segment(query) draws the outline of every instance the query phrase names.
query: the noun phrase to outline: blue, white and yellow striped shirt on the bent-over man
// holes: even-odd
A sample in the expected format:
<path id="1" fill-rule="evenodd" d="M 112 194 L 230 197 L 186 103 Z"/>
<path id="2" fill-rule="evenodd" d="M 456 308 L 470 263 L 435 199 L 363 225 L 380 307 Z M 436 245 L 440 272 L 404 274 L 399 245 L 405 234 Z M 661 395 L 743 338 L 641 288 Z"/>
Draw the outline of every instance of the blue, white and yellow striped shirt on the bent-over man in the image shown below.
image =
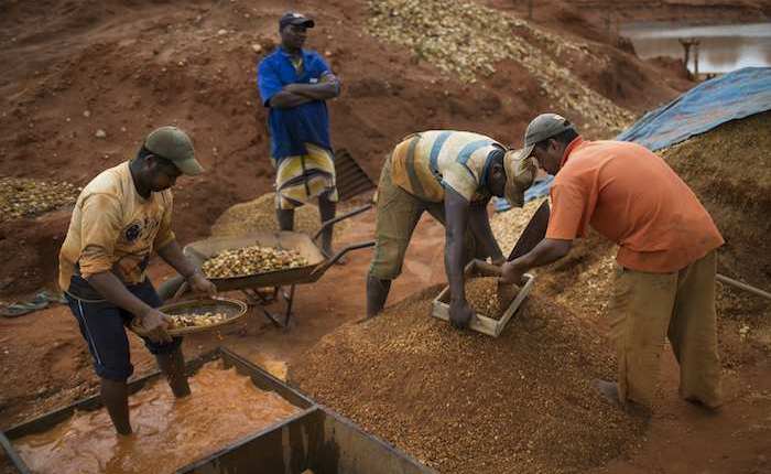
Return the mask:
<path id="1" fill-rule="evenodd" d="M 421 200 L 441 203 L 445 186 L 468 202 L 490 197 L 485 187 L 492 152 L 506 148 L 484 134 L 430 130 L 402 140 L 391 154 L 391 180 Z"/>

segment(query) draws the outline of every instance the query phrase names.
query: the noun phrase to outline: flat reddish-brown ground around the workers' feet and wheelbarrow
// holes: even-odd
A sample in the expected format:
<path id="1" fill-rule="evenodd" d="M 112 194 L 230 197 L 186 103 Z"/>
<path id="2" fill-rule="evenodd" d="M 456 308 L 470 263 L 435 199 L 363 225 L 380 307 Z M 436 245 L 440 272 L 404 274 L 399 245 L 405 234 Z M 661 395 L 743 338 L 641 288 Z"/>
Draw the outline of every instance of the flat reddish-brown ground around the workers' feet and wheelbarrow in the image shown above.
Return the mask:
<path id="1" fill-rule="evenodd" d="M 356 218 L 341 243 L 371 236 L 373 214 Z M 390 302 L 444 280 L 444 229 L 424 217 L 408 254 L 404 273 L 393 286 Z M 370 250 L 350 254 L 348 263 L 330 269 L 313 287 L 300 287 L 289 331 L 274 327 L 256 309 L 243 324 L 185 340 L 187 357 L 222 345 L 281 374 L 285 365 L 302 365 L 302 354 L 324 334 L 359 320 L 365 312 L 361 292 Z M 160 281 L 170 271 L 153 265 Z M 536 288 L 551 293 L 546 286 Z M 426 315 L 427 317 L 427 315 Z M 588 317 L 588 316 L 587 316 Z M 730 322 L 728 322 L 730 324 Z M 731 325 L 731 331 L 736 328 Z M 607 326 L 600 321 L 598 331 Z M 42 412 L 90 395 L 96 388 L 90 360 L 75 320 L 65 306 L 55 306 L 18 320 L 0 320 L 2 405 L 0 420 L 8 428 Z M 31 344 L 31 342 L 34 342 Z M 132 336 L 135 376 L 154 370 L 152 357 Z M 677 365 L 667 352 L 662 359 L 662 390 L 645 440 L 628 459 L 616 460 L 596 473 L 764 473 L 771 470 L 771 363 L 768 353 L 736 338 L 724 341 L 740 364 L 725 370 L 727 403 L 716 414 L 705 413 L 676 396 Z M 18 370 L 30 367 L 31 370 Z"/>

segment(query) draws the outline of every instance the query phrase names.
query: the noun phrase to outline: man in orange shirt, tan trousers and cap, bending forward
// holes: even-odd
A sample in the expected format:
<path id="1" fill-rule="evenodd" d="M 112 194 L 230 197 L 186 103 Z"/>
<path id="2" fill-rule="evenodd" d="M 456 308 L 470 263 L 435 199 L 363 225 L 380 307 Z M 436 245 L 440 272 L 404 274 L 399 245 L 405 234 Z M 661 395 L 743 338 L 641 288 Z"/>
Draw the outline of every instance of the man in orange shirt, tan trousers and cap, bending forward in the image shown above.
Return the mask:
<path id="1" fill-rule="evenodd" d="M 680 363 L 681 396 L 720 405 L 715 314 L 716 249 L 723 237 L 696 195 L 648 149 L 586 141 L 556 114 L 528 126 L 522 157 L 555 175 L 546 238 L 503 266 L 503 281 L 566 256 L 588 226 L 619 246 L 611 337 L 618 383 L 597 381 L 607 398 L 650 407 L 669 337 Z"/>

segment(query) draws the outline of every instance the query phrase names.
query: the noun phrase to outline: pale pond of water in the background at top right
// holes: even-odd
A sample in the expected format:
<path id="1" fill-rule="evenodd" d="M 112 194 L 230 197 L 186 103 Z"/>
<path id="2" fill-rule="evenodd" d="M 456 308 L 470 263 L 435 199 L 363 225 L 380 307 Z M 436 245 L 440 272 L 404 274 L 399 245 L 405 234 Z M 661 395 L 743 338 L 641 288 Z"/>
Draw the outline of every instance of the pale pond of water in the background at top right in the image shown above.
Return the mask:
<path id="1" fill-rule="evenodd" d="M 677 25 L 671 23 L 631 23 L 620 33 L 632 40 L 642 58 L 666 56 L 683 58 L 678 39 L 701 41 L 699 73 L 728 73 L 747 66 L 771 66 L 771 23 L 728 25 Z M 688 69 L 694 71 L 693 49 Z"/>

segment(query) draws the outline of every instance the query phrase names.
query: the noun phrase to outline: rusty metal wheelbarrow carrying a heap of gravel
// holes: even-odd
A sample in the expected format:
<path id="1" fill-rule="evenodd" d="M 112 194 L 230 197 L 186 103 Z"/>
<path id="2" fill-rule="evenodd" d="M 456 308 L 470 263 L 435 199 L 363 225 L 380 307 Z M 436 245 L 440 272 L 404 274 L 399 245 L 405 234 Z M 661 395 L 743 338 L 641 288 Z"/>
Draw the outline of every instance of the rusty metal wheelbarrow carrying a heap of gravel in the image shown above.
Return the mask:
<path id="1" fill-rule="evenodd" d="M 372 208 L 372 204 L 329 219 L 322 225 L 322 228 L 319 228 L 313 237 L 303 233 L 286 230 L 261 231 L 240 237 L 211 237 L 205 240 L 198 240 L 185 246 L 183 251 L 198 268 L 200 268 L 204 261 L 221 251 L 237 250 L 256 245 L 297 251 L 305 258 L 307 265 L 263 273 L 209 279 L 215 287 L 217 287 L 218 292 L 241 291 L 247 297 L 247 302 L 250 305 L 259 305 L 265 317 L 273 324 L 282 328 L 287 328 L 292 316 L 295 287 L 297 284 L 314 283 L 349 251 L 374 246 L 374 240 L 351 244 L 334 256 L 327 257 L 316 245 L 318 237 L 329 226 L 369 211 L 370 208 Z M 284 291 L 284 287 L 289 287 L 289 291 Z M 265 292 L 264 290 L 269 291 Z M 159 294 L 161 298 L 170 301 L 177 300 L 187 291 L 187 283 L 182 277 L 172 278 L 159 287 Z M 265 309 L 265 305 L 278 301 L 279 297 L 282 297 L 286 303 L 283 317 Z"/>

